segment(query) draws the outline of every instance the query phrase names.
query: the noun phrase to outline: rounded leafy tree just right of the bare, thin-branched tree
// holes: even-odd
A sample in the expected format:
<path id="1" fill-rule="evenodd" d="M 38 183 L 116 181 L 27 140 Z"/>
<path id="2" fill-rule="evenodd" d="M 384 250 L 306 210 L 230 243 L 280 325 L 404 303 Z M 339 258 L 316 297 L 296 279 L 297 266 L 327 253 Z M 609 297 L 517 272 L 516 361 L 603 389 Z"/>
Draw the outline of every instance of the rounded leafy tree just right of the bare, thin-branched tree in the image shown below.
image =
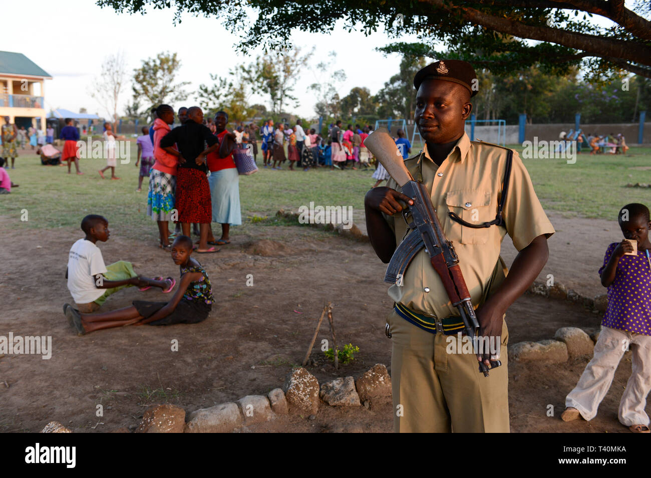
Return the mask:
<path id="1" fill-rule="evenodd" d="M 175 104 L 187 100 L 184 90 L 189 81 L 174 83 L 181 68 L 176 53 L 158 53 L 155 58 L 142 61 L 140 68 L 133 70 L 133 100 L 143 98 L 148 105 Z"/>

